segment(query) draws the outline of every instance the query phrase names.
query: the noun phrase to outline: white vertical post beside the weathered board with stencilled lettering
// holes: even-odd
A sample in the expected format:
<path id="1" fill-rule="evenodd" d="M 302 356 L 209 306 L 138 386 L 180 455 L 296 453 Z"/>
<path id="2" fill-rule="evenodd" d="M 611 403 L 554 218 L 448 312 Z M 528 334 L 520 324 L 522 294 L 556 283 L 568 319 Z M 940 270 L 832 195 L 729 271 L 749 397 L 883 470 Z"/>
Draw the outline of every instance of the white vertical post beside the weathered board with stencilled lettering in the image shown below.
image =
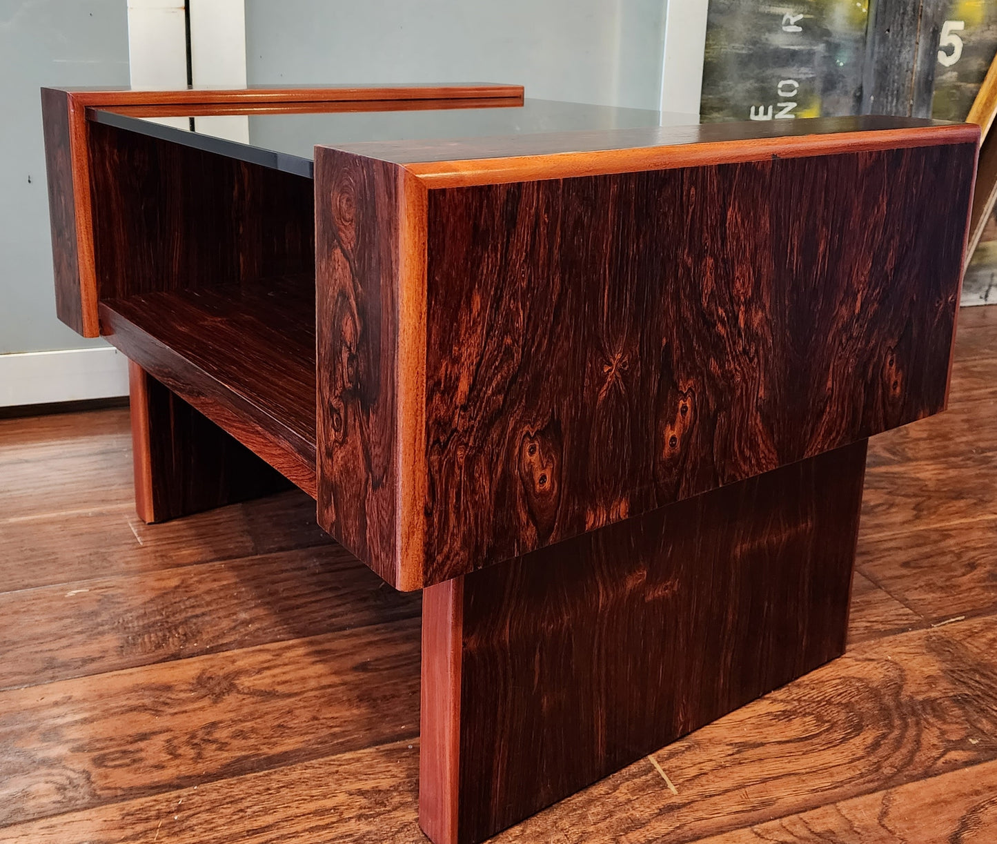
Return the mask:
<path id="1" fill-rule="evenodd" d="M 709 0 L 668 0 L 665 55 L 661 62 L 661 111 L 699 122 L 703 52 Z"/>

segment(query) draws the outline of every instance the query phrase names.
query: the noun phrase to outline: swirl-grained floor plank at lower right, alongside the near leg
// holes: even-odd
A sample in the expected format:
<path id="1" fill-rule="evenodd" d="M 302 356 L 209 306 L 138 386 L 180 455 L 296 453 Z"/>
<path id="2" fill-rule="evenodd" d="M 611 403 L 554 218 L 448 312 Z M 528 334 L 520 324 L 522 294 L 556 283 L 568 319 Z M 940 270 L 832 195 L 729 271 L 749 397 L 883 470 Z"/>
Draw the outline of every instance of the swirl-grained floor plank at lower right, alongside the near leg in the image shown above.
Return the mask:
<path id="1" fill-rule="evenodd" d="M 992 617 L 989 624 L 997 620 Z M 997 757 L 997 670 L 957 625 L 864 642 L 496 842 L 690 842 Z"/>

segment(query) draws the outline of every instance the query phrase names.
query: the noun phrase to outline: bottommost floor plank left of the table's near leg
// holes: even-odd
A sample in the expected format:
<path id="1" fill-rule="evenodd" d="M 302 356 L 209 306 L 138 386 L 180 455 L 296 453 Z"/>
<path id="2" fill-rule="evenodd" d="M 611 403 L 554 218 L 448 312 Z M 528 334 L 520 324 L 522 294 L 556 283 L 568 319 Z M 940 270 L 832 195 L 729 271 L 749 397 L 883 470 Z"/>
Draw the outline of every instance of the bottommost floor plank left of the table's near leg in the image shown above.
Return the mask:
<path id="1" fill-rule="evenodd" d="M 18 824 L 5 844 L 426 844 L 402 741 Z"/>

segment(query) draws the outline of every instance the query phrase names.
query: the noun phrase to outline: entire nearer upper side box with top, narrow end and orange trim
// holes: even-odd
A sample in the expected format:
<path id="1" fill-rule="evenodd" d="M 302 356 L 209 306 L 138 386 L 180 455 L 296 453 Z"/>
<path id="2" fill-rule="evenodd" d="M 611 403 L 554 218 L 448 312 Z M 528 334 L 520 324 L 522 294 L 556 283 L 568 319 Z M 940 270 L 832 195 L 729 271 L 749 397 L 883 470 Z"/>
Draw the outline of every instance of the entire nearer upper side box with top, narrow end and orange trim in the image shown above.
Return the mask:
<path id="1" fill-rule="evenodd" d="M 416 589 L 941 410 L 978 133 L 823 123 L 317 148 L 320 524 Z"/>

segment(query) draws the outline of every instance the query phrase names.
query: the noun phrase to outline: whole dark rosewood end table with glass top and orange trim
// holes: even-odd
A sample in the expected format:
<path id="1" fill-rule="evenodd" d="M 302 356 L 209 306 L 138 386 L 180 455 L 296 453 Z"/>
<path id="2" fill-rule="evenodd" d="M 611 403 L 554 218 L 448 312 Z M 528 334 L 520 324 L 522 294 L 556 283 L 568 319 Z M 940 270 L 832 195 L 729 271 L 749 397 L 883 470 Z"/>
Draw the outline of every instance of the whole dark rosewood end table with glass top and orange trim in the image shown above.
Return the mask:
<path id="1" fill-rule="evenodd" d="M 437 844 L 843 651 L 866 439 L 945 406 L 977 127 L 42 101 L 59 315 L 132 361 L 140 515 L 293 483 L 424 590 Z"/>

